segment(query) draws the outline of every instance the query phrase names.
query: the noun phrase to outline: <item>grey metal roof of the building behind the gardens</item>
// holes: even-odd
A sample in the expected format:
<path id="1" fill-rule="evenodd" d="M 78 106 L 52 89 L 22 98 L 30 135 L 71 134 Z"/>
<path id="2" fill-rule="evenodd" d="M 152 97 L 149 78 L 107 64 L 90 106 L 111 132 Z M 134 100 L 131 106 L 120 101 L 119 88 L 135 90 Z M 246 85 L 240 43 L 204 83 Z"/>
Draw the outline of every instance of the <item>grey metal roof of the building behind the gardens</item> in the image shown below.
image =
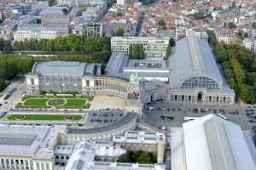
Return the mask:
<path id="1" fill-rule="evenodd" d="M 33 67 L 33 74 L 41 75 L 70 75 L 84 76 L 84 74 L 94 74 L 94 64 L 68 61 L 49 61 L 36 63 Z"/>

